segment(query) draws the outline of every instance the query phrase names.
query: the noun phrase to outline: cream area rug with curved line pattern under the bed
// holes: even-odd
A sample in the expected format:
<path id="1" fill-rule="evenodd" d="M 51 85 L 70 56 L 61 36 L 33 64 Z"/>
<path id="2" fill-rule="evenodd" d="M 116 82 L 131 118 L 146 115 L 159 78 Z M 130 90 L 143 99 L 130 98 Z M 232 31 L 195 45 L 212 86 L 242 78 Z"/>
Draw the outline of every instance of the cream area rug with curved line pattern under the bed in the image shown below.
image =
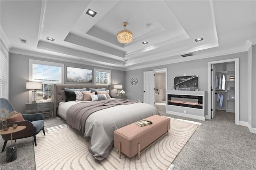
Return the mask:
<path id="1" fill-rule="evenodd" d="M 150 146 L 140 155 L 128 158 L 112 148 L 105 160 L 95 161 L 86 142 L 77 130 L 69 126 L 54 128 L 36 135 L 34 147 L 36 170 L 166 170 L 200 123 L 170 119 L 169 135 Z"/>

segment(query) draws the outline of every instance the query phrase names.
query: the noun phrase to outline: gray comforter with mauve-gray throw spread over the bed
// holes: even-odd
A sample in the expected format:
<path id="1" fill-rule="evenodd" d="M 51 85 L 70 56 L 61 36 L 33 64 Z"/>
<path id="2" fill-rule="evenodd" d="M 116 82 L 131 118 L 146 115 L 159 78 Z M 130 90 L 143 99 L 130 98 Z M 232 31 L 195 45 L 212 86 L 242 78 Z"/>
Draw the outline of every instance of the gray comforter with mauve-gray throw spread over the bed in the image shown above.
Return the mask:
<path id="1" fill-rule="evenodd" d="M 67 111 L 67 123 L 84 134 L 89 152 L 102 160 L 113 147 L 114 130 L 152 115 L 159 115 L 152 105 L 113 99 L 72 105 Z"/>

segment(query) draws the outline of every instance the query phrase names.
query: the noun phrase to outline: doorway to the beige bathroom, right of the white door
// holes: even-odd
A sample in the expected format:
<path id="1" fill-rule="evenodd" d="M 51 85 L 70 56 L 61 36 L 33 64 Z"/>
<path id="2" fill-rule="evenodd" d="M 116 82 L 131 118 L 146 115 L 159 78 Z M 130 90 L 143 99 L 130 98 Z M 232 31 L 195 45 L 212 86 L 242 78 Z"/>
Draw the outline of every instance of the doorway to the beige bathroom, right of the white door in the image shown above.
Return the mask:
<path id="1" fill-rule="evenodd" d="M 155 107 L 160 111 L 166 111 L 166 77 L 167 68 L 154 70 Z"/>

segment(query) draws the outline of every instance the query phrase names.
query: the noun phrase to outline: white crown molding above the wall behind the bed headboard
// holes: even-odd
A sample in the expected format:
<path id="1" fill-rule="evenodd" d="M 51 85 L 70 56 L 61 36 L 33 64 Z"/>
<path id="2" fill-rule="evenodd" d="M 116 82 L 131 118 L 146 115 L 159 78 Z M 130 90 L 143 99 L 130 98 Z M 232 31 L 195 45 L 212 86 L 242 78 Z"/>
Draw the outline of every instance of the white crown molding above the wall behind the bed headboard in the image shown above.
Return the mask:
<path id="1" fill-rule="evenodd" d="M 57 55 L 39 53 L 39 52 L 35 52 L 35 51 L 28 51 L 28 50 L 18 49 L 18 48 L 10 49 L 10 53 L 125 71 L 125 69 L 123 67 L 113 67 L 113 66 L 107 66 L 107 65 L 103 65 L 103 64 L 99 64 L 99 63 L 93 63 L 93 62 L 87 61 L 86 59 L 79 60 L 79 58 L 81 58 L 81 57 L 76 57 L 77 59 L 74 59 L 74 58 L 61 57 L 61 56 L 57 56 Z"/>

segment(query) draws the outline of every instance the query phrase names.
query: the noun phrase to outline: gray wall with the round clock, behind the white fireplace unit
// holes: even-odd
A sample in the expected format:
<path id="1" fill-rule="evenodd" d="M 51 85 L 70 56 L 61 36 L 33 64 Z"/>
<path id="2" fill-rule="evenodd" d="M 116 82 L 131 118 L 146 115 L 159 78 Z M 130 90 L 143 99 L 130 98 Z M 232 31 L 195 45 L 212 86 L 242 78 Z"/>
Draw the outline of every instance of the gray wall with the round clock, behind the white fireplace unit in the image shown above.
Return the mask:
<path id="1" fill-rule="evenodd" d="M 240 121 L 248 122 L 247 109 L 247 52 L 235 53 L 229 55 L 222 55 L 218 57 L 210 57 L 206 59 L 198 59 L 193 61 L 186 61 L 181 63 L 173 63 L 157 67 L 150 67 L 144 69 L 137 69 L 126 71 L 125 73 L 125 90 L 129 99 L 143 101 L 143 72 L 152 71 L 153 69 L 167 68 L 167 88 L 166 90 L 173 90 L 174 77 L 186 75 L 198 75 L 198 90 L 206 91 L 206 103 L 208 103 L 208 62 L 223 59 L 239 58 L 239 79 L 240 79 Z M 130 79 L 132 77 L 138 78 L 137 85 L 131 85 Z M 208 111 L 208 105 L 206 105 Z M 255 117 L 255 112 L 253 112 Z M 206 112 L 208 115 L 208 112 Z"/>

